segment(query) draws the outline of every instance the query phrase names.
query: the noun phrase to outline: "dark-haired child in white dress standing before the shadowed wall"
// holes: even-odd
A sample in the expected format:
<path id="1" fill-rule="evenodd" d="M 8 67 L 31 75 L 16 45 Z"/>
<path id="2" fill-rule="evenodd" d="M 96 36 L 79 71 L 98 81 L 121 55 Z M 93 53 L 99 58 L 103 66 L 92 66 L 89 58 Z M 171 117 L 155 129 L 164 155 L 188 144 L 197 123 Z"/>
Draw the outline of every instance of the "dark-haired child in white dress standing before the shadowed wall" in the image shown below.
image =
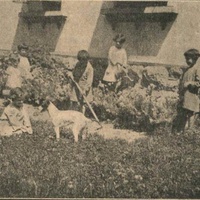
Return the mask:
<path id="1" fill-rule="evenodd" d="M 118 74 L 122 71 L 123 67 L 127 65 L 127 54 L 123 48 L 126 41 L 123 34 L 117 34 L 113 41 L 114 46 L 111 46 L 108 53 L 108 67 L 105 71 L 103 81 L 106 83 L 114 84 L 117 82 Z"/>

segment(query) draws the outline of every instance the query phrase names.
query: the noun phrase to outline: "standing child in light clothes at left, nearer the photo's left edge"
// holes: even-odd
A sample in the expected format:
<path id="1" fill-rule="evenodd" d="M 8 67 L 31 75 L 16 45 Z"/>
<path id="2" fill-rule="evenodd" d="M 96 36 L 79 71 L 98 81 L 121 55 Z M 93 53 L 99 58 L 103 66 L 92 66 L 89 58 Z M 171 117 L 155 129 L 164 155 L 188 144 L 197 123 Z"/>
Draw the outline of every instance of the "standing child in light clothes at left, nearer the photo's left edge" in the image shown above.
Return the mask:
<path id="1" fill-rule="evenodd" d="M 6 70 L 7 82 L 6 89 L 13 89 L 22 86 L 21 73 L 17 65 L 19 63 L 19 57 L 16 54 L 11 54 L 8 60 L 8 68 Z"/>

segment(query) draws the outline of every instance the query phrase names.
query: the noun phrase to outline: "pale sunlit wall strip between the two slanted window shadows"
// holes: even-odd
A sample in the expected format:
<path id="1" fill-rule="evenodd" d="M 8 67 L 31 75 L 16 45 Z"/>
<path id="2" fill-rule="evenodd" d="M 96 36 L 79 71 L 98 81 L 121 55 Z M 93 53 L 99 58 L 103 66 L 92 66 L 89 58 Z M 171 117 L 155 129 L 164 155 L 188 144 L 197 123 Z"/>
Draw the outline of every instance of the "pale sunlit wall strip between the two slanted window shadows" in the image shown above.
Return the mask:
<path id="1" fill-rule="evenodd" d="M 80 49 L 89 49 L 102 1 L 62 1 L 62 14 L 67 20 L 55 52 L 75 56 Z"/>

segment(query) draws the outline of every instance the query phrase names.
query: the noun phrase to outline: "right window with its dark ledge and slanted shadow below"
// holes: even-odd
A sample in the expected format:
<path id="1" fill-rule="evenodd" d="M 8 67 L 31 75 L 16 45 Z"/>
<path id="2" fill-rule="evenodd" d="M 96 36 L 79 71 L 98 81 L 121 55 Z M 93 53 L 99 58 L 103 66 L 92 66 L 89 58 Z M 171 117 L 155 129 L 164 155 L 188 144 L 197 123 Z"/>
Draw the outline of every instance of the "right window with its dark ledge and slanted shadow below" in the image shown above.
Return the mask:
<path id="1" fill-rule="evenodd" d="M 90 54 L 107 58 L 113 37 L 123 33 L 128 56 L 157 56 L 176 19 L 173 12 L 163 13 L 167 4 L 167 1 L 104 2 L 91 39 Z M 160 7 L 160 13 L 145 14 L 149 6 Z"/>

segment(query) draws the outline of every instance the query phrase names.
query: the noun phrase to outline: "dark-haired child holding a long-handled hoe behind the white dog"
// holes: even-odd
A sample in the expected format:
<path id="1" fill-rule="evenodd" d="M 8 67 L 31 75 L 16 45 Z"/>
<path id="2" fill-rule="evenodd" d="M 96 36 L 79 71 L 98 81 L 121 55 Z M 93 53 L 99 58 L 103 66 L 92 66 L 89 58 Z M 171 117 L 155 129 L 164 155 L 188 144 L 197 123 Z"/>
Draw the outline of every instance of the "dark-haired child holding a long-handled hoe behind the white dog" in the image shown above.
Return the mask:
<path id="1" fill-rule="evenodd" d="M 80 86 L 83 94 L 86 96 L 88 101 L 92 101 L 92 83 L 93 83 L 93 67 L 89 62 L 90 55 L 87 51 L 81 50 L 78 52 L 78 62 L 72 71 L 72 74 L 68 74 L 78 85 Z M 84 99 L 79 89 L 75 84 L 72 84 L 72 107 L 80 105 L 80 109 L 85 113 Z"/>

